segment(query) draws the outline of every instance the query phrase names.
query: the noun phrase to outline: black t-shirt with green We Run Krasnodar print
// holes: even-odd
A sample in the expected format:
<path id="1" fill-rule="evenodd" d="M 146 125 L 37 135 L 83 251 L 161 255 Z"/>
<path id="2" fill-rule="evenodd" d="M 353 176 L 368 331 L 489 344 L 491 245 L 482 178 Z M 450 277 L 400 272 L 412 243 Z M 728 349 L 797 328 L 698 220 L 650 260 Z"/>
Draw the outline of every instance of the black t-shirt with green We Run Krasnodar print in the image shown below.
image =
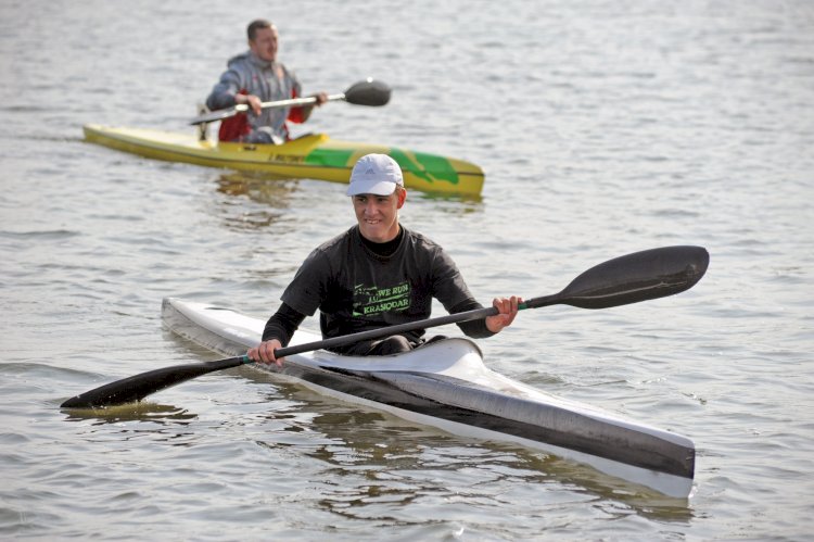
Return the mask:
<path id="1" fill-rule="evenodd" d="M 319 310 L 323 338 L 427 319 L 433 298 L 447 312 L 481 306 L 441 245 L 400 229 L 390 255 L 371 250 L 358 226 L 323 243 L 303 262 L 281 300 L 303 315 Z M 404 335 L 417 341 L 423 330 Z"/>

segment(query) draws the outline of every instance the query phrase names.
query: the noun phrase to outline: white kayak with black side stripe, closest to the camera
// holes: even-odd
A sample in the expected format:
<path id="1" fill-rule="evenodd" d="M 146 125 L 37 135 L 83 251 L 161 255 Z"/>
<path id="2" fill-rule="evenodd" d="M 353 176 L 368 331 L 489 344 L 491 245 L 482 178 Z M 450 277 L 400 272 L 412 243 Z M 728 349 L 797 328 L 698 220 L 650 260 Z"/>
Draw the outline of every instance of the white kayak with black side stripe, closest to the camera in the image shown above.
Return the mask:
<path id="1" fill-rule="evenodd" d="M 176 298 L 164 300 L 162 316 L 176 333 L 225 355 L 256 345 L 265 325 Z M 319 337 L 297 331 L 291 345 L 315 340 Z M 255 367 L 455 434 L 544 450 L 672 497 L 686 499 L 692 488 L 689 439 L 511 380 L 488 369 L 468 339 L 436 341 L 396 356 L 320 350 L 291 355 L 282 368 Z"/>

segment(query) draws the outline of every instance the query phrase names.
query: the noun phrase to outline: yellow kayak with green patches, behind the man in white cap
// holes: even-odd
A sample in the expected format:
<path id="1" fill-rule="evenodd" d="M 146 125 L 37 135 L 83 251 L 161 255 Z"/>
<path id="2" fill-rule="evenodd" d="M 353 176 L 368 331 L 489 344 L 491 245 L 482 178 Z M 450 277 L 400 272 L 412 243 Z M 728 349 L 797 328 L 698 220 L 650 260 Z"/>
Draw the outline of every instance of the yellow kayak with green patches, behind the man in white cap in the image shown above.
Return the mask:
<path id="1" fill-rule="evenodd" d="M 475 164 L 395 147 L 338 141 L 325 134 L 310 134 L 283 144 L 253 144 L 201 140 L 194 133 L 96 124 L 86 125 L 84 130 L 87 141 L 150 159 L 333 182 L 347 182 L 356 161 L 376 152 L 398 162 L 409 189 L 459 196 L 480 196 L 483 189 L 483 169 Z"/>

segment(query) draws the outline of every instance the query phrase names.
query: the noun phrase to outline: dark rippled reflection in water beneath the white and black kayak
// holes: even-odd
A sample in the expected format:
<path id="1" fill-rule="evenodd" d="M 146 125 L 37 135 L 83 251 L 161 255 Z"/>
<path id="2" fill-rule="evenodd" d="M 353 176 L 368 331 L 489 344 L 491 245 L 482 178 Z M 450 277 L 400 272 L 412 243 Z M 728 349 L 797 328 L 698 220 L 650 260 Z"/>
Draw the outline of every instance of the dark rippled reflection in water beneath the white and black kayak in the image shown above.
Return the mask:
<path id="1" fill-rule="evenodd" d="M 671 522 L 694 517 L 687 500 L 667 497 L 544 452 L 473 442 L 374 409 L 325 402 L 296 385 L 281 387 L 269 402 L 279 402 L 281 395 L 294 402 L 284 412 L 275 409 L 274 418 L 279 421 L 285 416 L 292 427 L 320 434 L 296 449 L 326 465 L 319 475 L 343 480 L 333 491 L 325 490 L 319 501 L 321 507 L 343 517 L 376 517 L 382 505 L 409 504 L 430 494 L 498 505 L 507 493 L 551 484 L 608 514 L 637 514 Z M 315 440 L 325 442 L 315 445 Z M 279 445 L 274 440 L 264 443 L 269 450 Z"/>

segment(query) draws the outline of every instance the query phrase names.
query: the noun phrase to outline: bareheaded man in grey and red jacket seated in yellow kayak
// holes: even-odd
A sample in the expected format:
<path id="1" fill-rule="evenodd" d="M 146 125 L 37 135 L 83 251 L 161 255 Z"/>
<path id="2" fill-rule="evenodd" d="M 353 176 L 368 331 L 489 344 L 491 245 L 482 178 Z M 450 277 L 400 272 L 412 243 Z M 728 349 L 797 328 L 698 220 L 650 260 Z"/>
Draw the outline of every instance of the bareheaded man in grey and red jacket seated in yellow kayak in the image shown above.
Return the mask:
<path id="1" fill-rule="evenodd" d="M 227 63 L 228 70 L 206 98 L 209 110 L 247 104 L 251 113 L 239 114 L 220 123 L 220 141 L 250 143 L 282 143 L 289 139 L 287 121 L 304 123 L 314 105 L 262 109 L 262 102 L 288 100 L 302 96 L 296 76 L 277 61 L 280 36 L 277 27 L 265 20 L 253 21 L 246 28 L 249 51 Z M 317 92 L 316 105 L 328 101 L 328 94 Z"/>

